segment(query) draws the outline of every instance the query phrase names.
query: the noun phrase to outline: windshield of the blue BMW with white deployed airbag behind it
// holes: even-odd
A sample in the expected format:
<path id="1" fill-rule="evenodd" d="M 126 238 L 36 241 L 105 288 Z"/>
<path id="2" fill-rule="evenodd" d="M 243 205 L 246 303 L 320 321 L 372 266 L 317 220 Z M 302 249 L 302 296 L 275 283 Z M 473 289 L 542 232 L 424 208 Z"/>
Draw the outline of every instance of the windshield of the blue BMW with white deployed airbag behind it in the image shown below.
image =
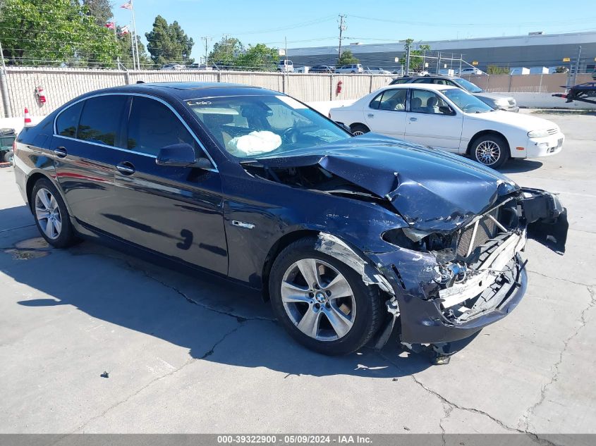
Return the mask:
<path id="1" fill-rule="evenodd" d="M 280 155 L 351 137 L 332 120 L 288 96 L 212 97 L 185 102 L 219 147 L 237 158 Z"/>

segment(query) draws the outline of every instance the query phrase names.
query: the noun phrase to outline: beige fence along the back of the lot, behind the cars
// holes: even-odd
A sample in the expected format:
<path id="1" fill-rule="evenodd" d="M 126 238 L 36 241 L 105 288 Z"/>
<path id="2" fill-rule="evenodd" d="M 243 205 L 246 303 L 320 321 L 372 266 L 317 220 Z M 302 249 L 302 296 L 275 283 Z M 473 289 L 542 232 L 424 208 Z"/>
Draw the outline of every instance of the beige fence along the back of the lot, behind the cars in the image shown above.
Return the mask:
<path id="1" fill-rule="evenodd" d="M 8 114 L 13 117 L 23 116 L 25 106 L 28 107 L 33 117 L 47 116 L 57 107 L 85 92 L 134 84 L 138 81 L 232 82 L 273 89 L 290 94 L 301 101 L 312 102 L 355 100 L 388 85 L 392 78 L 394 76 L 360 74 L 284 74 L 197 70 L 139 70 L 125 72 L 121 70 L 30 67 L 7 67 L 5 77 L 9 103 Z M 563 92 L 564 89 L 561 85 L 565 85 L 566 79 L 566 74 L 470 77 L 472 82 L 488 91 L 524 92 L 523 94 Z M 591 80 L 590 75 L 578 75 L 577 82 L 588 82 L 589 80 Z M 341 82 L 341 92 L 338 92 L 339 82 Z M 35 97 L 35 87 L 38 86 L 43 87 L 45 90 L 47 97 L 45 104 L 39 104 Z M 6 102 L 4 95 L 2 95 L 2 100 L 4 105 Z M 533 99 L 531 104 L 538 102 Z M 564 106 L 563 100 L 555 102 L 558 106 Z M 520 105 L 525 106 L 521 101 Z M 0 107 L 0 117 L 5 117 L 4 106 Z"/>

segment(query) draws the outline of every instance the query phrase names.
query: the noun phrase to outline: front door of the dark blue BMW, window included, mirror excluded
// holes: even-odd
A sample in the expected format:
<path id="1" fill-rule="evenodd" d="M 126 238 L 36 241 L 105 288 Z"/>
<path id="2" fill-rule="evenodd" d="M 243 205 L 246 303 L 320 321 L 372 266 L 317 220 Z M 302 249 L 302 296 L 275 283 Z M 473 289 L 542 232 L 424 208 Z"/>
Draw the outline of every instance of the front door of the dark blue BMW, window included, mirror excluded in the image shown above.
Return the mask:
<path id="1" fill-rule="evenodd" d="M 115 170 L 118 209 L 109 216 L 114 234 L 141 247 L 227 274 L 223 199 L 213 168 L 158 166 L 162 147 L 186 142 L 197 157 L 204 149 L 164 102 L 131 96 L 126 150 Z"/>

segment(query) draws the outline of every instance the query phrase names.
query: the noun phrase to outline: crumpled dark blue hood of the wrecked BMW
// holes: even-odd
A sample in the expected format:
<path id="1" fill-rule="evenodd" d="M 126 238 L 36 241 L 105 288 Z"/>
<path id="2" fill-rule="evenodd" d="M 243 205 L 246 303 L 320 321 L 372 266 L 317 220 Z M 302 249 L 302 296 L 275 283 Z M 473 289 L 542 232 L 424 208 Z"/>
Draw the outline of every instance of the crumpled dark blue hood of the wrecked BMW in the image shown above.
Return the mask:
<path id="1" fill-rule="evenodd" d="M 454 230 L 519 190 L 475 161 L 372 133 L 257 161 L 276 168 L 318 164 L 387 199 L 418 230 Z"/>

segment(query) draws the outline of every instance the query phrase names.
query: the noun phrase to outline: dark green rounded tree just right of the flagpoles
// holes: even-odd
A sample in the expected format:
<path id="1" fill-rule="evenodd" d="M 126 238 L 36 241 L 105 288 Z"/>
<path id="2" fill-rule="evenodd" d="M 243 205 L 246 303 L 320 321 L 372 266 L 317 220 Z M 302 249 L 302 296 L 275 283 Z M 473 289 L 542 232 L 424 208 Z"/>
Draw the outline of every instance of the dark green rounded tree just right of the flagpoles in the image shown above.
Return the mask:
<path id="1" fill-rule="evenodd" d="M 154 66 L 162 66 L 164 63 L 191 64 L 190 58 L 195 42 L 182 30 L 178 22 L 174 21 L 169 25 L 162 16 L 157 16 L 153 22 L 151 32 L 146 32 L 147 50 L 151 54 Z"/>

